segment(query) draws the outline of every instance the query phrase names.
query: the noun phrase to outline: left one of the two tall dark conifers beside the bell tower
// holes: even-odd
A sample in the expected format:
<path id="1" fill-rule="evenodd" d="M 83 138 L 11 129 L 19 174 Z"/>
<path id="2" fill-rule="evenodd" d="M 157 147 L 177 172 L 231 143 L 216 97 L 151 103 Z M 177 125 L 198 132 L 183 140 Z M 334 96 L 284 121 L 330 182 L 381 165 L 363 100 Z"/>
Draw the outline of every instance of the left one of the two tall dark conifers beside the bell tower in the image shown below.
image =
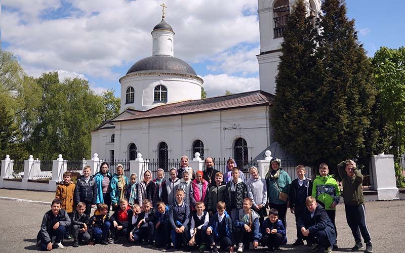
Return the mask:
<path id="1" fill-rule="evenodd" d="M 276 96 L 271 109 L 276 141 L 301 162 L 312 162 L 317 147 L 313 113 L 318 83 L 313 77 L 316 29 L 302 0 L 297 1 L 287 22 L 276 76 Z"/>

